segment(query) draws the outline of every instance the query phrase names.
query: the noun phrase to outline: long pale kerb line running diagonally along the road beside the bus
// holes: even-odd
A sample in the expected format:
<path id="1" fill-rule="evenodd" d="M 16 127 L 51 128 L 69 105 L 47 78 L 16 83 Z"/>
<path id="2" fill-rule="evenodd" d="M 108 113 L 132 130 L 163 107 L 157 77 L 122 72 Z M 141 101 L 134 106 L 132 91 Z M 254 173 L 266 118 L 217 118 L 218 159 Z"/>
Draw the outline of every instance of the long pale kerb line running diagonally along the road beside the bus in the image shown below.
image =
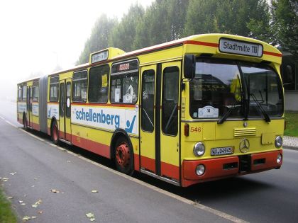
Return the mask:
<path id="1" fill-rule="evenodd" d="M 0 118 L 3 119 L 3 120 L 5 120 L 5 119 L 4 119 L 3 117 L 1 117 L 1 116 L 0 116 Z M 6 120 L 5 120 L 5 121 L 6 121 Z M 11 126 L 16 127 L 16 125 L 13 125 L 11 122 L 9 122 L 9 121 L 6 121 L 6 122 L 7 122 L 9 125 L 11 125 Z M 87 162 L 89 162 L 90 164 L 94 164 L 95 166 L 98 166 L 98 167 L 100 167 L 100 168 L 104 168 L 106 171 L 110 171 L 111 173 L 115 173 L 115 174 L 117 174 L 118 176 L 122 176 L 123 178 L 126 178 L 126 179 L 128 179 L 128 180 L 130 180 L 130 181 L 133 181 L 133 182 L 135 182 L 135 183 L 138 183 L 138 184 L 140 184 L 140 185 L 143 185 L 143 186 L 145 186 L 146 188 L 150 188 L 151 190 L 155 190 L 155 191 L 157 191 L 158 193 L 162 193 L 163 195 L 167 195 L 167 196 L 170 197 L 170 198 L 174 198 L 174 199 L 176 199 L 176 200 L 180 200 L 181 202 L 184 202 L 184 203 L 186 203 L 186 204 L 188 204 L 188 205 L 192 205 L 193 207 L 199 208 L 200 210 L 204 210 L 204 211 L 206 211 L 206 212 L 210 212 L 210 213 L 213 214 L 213 215 L 217 215 L 217 216 L 219 216 L 219 217 L 223 217 L 224 219 L 230 220 L 231 222 L 246 223 L 243 219 L 239 219 L 238 217 L 234 217 L 234 216 L 232 216 L 232 215 L 228 215 L 228 214 L 226 214 L 225 212 L 221 212 L 221 211 L 219 211 L 219 210 L 215 210 L 215 209 L 213 209 L 213 208 L 211 208 L 211 207 L 207 207 L 207 206 L 205 206 L 205 205 L 199 204 L 198 202 L 194 202 L 194 201 L 189 200 L 189 199 L 187 199 L 187 198 L 183 198 L 183 197 L 181 197 L 180 195 L 175 195 L 174 193 L 170 193 L 170 192 L 168 192 L 167 190 L 162 190 L 162 189 L 160 189 L 160 188 L 158 188 L 158 187 L 155 187 L 154 185 L 150 185 L 149 183 L 145 183 L 145 182 L 140 181 L 140 180 L 138 180 L 138 179 L 136 179 L 136 178 L 133 178 L 133 177 L 131 177 L 131 176 L 128 176 L 128 175 L 126 175 L 126 174 L 124 174 L 124 173 L 115 171 L 115 170 L 112 169 L 112 168 L 109 168 L 109 167 L 107 167 L 107 166 L 104 166 L 104 165 L 101 165 L 101 164 L 99 164 L 99 163 L 96 163 L 95 161 L 92 161 L 92 160 L 90 160 L 90 159 L 87 159 L 87 158 L 84 157 L 84 156 L 80 156 L 80 155 L 78 155 L 78 154 L 75 154 L 75 153 L 72 152 L 72 151 L 65 150 L 65 149 L 62 148 L 62 147 L 58 147 L 57 145 L 55 145 L 55 144 L 53 144 L 53 143 L 46 142 L 44 139 L 41 139 L 40 137 L 35 136 L 35 135 L 31 134 L 30 132 L 27 132 L 26 130 L 23 130 L 23 129 L 18 128 L 18 127 L 16 127 L 16 128 L 17 128 L 18 130 L 21 130 L 22 132 L 25 132 L 26 134 L 30 135 L 31 137 L 34 137 L 35 139 L 38 139 L 38 140 L 40 140 L 40 141 L 42 141 L 42 142 L 45 142 L 46 144 L 48 144 L 48 145 L 50 145 L 50 146 L 52 146 L 52 147 L 55 147 L 55 148 L 57 148 L 57 149 L 60 149 L 61 151 L 65 151 L 65 152 L 67 152 L 68 154 L 71 154 L 72 156 L 77 156 L 77 158 L 82 159 L 82 160 L 84 160 L 84 161 L 87 161 Z"/>

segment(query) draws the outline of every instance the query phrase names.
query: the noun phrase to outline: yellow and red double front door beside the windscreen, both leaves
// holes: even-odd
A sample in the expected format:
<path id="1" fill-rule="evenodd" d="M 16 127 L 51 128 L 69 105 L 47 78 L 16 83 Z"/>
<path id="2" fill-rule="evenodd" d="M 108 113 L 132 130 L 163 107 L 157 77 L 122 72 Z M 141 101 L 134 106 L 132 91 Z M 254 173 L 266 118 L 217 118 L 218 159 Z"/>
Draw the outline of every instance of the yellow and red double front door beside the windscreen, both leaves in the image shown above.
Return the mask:
<path id="1" fill-rule="evenodd" d="M 180 67 L 168 62 L 142 67 L 140 168 L 180 181 Z"/>

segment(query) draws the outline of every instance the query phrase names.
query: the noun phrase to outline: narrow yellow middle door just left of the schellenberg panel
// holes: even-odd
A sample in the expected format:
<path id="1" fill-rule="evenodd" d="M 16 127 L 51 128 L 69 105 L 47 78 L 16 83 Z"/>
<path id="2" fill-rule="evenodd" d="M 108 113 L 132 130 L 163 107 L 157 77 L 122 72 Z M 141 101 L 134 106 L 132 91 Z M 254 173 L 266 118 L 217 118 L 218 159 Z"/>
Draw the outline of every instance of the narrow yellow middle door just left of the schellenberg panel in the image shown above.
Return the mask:
<path id="1" fill-rule="evenodd" d="M 70 127 L 70 98 L 71 98 L 71 81 L 70 79 L 60 81 L 60 98 L 59 98 L 59 130 L 60 139 L 72 142 L 72 132 Z"/>

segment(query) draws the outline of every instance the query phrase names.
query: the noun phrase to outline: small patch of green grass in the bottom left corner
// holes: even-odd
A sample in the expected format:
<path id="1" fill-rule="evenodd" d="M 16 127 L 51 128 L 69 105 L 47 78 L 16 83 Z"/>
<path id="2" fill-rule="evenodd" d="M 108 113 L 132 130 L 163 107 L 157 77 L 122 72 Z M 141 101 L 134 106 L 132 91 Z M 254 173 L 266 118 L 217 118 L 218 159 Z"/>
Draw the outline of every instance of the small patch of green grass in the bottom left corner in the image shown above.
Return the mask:
<path id="1" fill-rule="evenodd" d="M 17 218 L 11 208 L 11 202 L 7 200 L 2 188 L 0 188 L 0 223 L 16 223 Z"/>

